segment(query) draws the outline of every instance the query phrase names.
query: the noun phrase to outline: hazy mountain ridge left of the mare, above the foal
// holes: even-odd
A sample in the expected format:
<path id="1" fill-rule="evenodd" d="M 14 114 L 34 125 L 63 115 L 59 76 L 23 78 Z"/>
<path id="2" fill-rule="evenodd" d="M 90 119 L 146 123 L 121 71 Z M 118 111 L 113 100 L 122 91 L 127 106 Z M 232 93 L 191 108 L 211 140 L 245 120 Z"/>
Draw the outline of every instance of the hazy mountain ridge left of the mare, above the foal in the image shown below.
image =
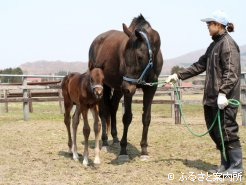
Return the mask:
<path id="1" fill-rule="evenodd" d="M 35 61 L 20 65 L 24 74 L 55 74 L 58 72 L 80 72 L 88 69 L 87 62 Z"/>

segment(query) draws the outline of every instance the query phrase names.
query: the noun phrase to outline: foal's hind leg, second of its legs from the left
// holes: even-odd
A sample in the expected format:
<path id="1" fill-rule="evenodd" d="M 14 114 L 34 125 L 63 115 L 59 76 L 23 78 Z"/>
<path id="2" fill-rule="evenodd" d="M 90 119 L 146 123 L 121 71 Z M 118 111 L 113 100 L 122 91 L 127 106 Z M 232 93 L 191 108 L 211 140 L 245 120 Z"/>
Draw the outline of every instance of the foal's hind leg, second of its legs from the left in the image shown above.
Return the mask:
<path id="1" fill-rule="evenodd" d="M 79 115 L 80 110 L 79 107 L 76 106 L 75 112 L 73 114 L 73 159 L 77 161 L 79 159 L 79 155 L 77 153 L 77 142 L 76 142 L 76 135 L 77 135 L 77 128 L 79 125 Z"/>

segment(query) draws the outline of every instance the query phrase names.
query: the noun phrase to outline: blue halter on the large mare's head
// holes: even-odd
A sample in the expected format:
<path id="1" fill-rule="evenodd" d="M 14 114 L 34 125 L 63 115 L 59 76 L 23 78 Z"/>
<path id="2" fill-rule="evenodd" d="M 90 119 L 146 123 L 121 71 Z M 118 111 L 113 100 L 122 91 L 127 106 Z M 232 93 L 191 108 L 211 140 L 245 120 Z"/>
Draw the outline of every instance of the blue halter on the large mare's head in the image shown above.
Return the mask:
<path id="1" fill-rule="evenodd" d="M 148 48 L 148 53 L 149 53 L 149 63 L 145 67 L 144 71 L 142 72 L 141 76 L 138 79 L 136 79 L 136 78 L 128 78 L 126 76 L 123 76 L 123 80 L 125 80 L 127 82 L 131 82 L 133 84 L 145 85 L 146 82 L 143 80 L 143 78 L 146 75 L 147 71 L 153 67 L 152 49 L 151 49 L 150 42 L 149 42 L 149 39 L 148 39 L 146 33 L 144 33 L 143 31 L 139 31 L 139 33 L 144 37 L 144 39 L 145 39 L 145 41 L 147 43 L 147 48 Z"/>

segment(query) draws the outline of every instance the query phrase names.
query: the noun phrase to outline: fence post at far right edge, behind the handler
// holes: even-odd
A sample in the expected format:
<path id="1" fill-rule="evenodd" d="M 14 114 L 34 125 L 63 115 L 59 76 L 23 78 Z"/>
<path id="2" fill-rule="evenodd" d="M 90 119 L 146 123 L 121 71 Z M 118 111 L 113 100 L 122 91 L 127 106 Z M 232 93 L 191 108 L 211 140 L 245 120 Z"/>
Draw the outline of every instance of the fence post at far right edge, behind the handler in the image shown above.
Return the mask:
<path id="1" fill-rule="evenodd" d="M 241 114 L 242 125 L 246 126 L 246 74 L 241 74 Z"/>

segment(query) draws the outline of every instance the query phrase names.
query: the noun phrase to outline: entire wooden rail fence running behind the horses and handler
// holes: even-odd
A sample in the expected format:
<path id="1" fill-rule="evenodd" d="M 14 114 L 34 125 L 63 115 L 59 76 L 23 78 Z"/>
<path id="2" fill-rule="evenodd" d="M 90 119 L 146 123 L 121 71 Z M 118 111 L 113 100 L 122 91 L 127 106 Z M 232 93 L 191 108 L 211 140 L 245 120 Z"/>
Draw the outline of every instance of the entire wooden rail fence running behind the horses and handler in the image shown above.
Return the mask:
<path id="1" fill-rule="evenodd" d="M 0 76 L 3 76 L 0 74 Z M 33 102 L 46 102 L 46 101 L 58 101 L 60 112 L 63 112 L 62 106 L 62 93 L 60 88 L 61 80 L 54 79 L 62 79 L 63 76 L 47 76 L 47 75 L 4 75 L 4 76 L 19 76 L 23 78 L 22 84 L 15 85 L 4 85 L 0 84 L 0 92 L 2 93 L 2 97 L 0 98 L 0 103 L 5 104 L 5 111 L 8 112 L 8 103 L 9 102 L 22 102 L 23 103 L 23 117 L 24 120 L 27 121 L 29 118 L 29 112 L 33 112 Z M 201 75 L 202 76 L 202 75 Z M 38 82 L 38 83 L 28 83 L 28 77 L 42 77 L 42 78 L 53 78 L 53 81 L 50 82 Z M 163 78 L 165 76 L 161 76 Z M 182 97 L 182 86 L 180 86 L 178 93 Z M 187 87 L 186 87 L 187 88 Z M 197 91 L 198 89 L 202 89 L 202 86 L 192 87 L 193 91 Z M 39 92 L 39 90 L 45 90 L 45 92 Z M 16 91 L 16 92 L 15 92 Z M 11 92 L 11 93 L 10 93 Z M 142 96 L 141 91 L 138 91 L 134 97 Z M 181 123 L 181 115 L 178 107 L 178 101 L 176 99 L 175 92 L 172 88 L 169 90 L 164 90 L 163 88 L 158 88 L 155 96 L 169 96 L 169 100 L 153 100 L 153 104 L 168 104 L 170 105 L 171 117 L 175 119 L 175 124 Z M 123 101 L 122 105 L 123 104 Z M 133 103 L 142 104 L 142 99 L 133 99 Z M 201 104 L 201 101 L 182 101 L 182 103 L 189 104 Z M 242 73 L 241 75 L 241 113 L 242 113 L 242 125 L 246 125 L 246 73 Z"/>

